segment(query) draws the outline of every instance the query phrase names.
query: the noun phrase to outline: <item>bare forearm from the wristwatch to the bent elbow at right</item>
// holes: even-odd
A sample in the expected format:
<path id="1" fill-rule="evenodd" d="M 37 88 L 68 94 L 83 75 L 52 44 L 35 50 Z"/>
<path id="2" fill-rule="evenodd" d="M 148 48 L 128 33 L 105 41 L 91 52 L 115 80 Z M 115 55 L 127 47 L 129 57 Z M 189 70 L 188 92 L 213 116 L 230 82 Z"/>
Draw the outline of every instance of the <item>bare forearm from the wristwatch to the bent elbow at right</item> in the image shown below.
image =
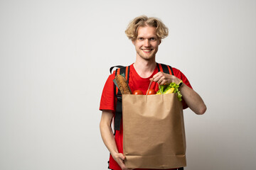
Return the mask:
<path id="1" fill-rule="evenodd" d="M 181 86 L 180 91 L 183 100 L 186 101 L 186 104 L 194 113 L 202 115 L 206 112 L 206 104 L 203 102 L 201 96 L 196 93 L 196 91 L 186 86 L 186 84 Z"/>

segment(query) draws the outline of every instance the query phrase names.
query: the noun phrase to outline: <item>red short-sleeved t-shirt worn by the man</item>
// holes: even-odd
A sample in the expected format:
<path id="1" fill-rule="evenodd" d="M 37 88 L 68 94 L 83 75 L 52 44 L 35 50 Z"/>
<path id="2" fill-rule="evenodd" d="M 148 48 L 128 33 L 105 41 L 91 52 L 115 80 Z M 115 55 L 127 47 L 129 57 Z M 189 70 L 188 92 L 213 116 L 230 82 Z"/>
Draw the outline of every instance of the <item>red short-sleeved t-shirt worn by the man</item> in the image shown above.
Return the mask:
<path id="1" fill-rule="evenodd" d="M 185 75 L 178 69 L 172 67 L 173 71 L 174 71 L 174 76 L 177 77 L 178 79 L 181 79 L 183 81 L 184 84 L 186 84 L 187 86 L 189 86 L 191 89 L 191 84 L 189 83 L 188 79 L 185 77 Z M 150 84 L 150 78 L 152 78 L 154 76 L 154 74 L 156 74 L 158 72 L 158 68 L 156 67 L 154 69 L 153 74 L 151 74 L 150 77 L 148 78 L 142 78 L 139 76 L 139 74 L 137 74 L 136 70 L 134 69 L 133 64 L 130 66 L 130 72 L 129 72 L 129 87 L 131 89 L 131 91 L 134 90 L 141 90 L 144 94 L 146 94 L 146 91 L 149 89 L 149 84 Z M 114 75 L 110 74 L 110 76 L 108 77 L 104 89 L 102 91 L 102 97 L 100 100 L 100 111 L 102 110 L 110 110 L 110 111 L 115 111 L 115 107 L 116 107 L 116 97 L 114 96 Z M 150 89 L 155 89 L 156 91 L 159 90 L 159 85 L 156 82 L 152 82 Z M 185 101 L 182 100 L 183 102 L 183 109 L 188 108 L 188 106 L 186 105 Z M 119 153 L 123 153 L 123 130 L 122 130 L 122 122 L 121 122 L 121 126 L 120 126 L 120 130 L 117 130 L 115 135 L 114 135 L 114 139 L 115 142 L 117 144 L 117 149 Z M 112 158 L 112 156 L 110 155 L 110 169 L 114 169 L 114 170 L 122 170 L 119 165 L 117 164 L 117 162 L 114 161 L 114 159 Z M 153 170 L 153 169 L 151 169 Z"/>

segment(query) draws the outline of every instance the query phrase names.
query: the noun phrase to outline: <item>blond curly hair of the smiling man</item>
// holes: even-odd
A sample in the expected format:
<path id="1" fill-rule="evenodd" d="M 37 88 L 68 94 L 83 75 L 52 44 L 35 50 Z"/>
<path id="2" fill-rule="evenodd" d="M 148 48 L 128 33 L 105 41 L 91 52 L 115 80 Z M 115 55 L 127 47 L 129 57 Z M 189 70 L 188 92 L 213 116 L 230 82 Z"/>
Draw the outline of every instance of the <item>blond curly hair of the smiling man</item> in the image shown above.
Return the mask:
<path id="1" fill-rule="evenodd" d="M 168 28 L 159 18 L 147 17 L 147 16 L 138 16 L 134 18 L 129 25 L 125 33 L 127 37 L 134 41 L 137 38 L 137 32 L 139 27 L 152 26 L 156 28 L 156 36 L 160 39 L 164 39 L 168 36 Z"/>

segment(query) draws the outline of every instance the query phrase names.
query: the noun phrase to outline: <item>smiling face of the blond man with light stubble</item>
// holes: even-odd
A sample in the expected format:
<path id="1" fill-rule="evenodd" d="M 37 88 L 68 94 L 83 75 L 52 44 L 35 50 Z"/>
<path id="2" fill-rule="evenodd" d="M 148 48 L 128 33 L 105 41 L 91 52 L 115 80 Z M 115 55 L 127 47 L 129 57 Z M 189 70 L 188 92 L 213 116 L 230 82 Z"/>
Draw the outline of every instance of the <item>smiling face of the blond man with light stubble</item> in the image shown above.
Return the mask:
<path id="1" fill-rule="evenodd" d="M 136 40 L 133 41 L 137 57 L 143 60 L 154 60 L 161 40 L 156 36 L 156 28 L 139 27 Z"/>

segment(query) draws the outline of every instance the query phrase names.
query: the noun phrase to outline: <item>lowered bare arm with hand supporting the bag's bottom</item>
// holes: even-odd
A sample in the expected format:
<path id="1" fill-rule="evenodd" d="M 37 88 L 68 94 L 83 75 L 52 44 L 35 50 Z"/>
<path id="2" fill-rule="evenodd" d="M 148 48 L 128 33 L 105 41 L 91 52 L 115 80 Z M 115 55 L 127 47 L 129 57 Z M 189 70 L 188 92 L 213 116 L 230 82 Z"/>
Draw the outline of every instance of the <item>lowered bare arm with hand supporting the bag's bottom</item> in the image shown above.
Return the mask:
<path id="1" fill-rule="evenodd" d="M 107 149 L 110 151 L 110 154 L 114 158 L 114 160 L 119 164 L 121 169 L 126 169 L 124 166 L 124 155 L 119 153 L 117 150 L 117 145 L 114 141 L 114 135 L 111 128 L 112 118 L 113 118 L 112 111 L 102 111 L 102 118 L 100 120 L 100 133 L 102 135 L 102 140 L 105 143 Z"/>

